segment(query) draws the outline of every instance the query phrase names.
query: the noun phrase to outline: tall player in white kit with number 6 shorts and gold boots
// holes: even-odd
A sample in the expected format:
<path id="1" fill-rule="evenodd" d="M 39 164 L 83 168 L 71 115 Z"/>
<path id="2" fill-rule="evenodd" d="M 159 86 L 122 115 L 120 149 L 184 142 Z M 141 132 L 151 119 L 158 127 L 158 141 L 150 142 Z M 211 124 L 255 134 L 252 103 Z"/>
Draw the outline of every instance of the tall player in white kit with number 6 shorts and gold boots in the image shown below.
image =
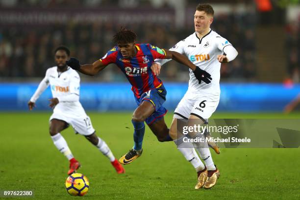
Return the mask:
<path id="1" fill-rule="evenodd" d="M 213 22 L 214 10 L 209 4 L 199 4 L 194 15 L 195 31 L 186 39 L 178 42 L 170 50 L 185 54 L 201 70 L 211 75 L 211 82 L 198 84 L 194 73 L 190 70 L 189 87 L 178 103 L 170 127 L 169 134 L 177 145 L 178 150 L 191 162 L 198 174 L 195 189 L 211 188 L 220 176 L 214 165 L 210 151 L 199 144 L 194 144 L 205 165 L 201 162 L 194 148 L 180 148 L 183 136 L 177 134 L 177 119 L 188 120 L 188 125 L 203 124 L 216 110 L 220 100 L 220 68 L 221 63 L 232 61 L 238 54 L 232 45 L 218 33 L 210 29 Z M 155 75 L 160 67 L 168 60 L 155 60 L 151 69 Z M 201 133 L 194 133 L 193 137 L 202 137 Z M 207 147 L 207 145 L 206 145 Z"/>

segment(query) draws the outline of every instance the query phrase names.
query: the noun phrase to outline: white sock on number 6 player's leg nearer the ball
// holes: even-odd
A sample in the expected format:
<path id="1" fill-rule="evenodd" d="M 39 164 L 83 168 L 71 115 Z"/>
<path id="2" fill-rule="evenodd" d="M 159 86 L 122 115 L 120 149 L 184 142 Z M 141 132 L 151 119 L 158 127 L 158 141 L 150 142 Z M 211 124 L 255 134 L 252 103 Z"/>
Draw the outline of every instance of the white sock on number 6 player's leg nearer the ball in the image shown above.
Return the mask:
<path id="1" fill-rule="evenodd" d="M 201 162 L 197 152 L 194 148 L 186 148 L 186 144 L 183 143 L 184 136 L 177 138 L 174 140 L 177 149 L 183 154 L 185 159 L 189 161 L 193 167 L 195 168 L 196 172 L 199 172 L 205 168 L 203 163 Z M 192 144 L 189 145 L 190 147 L 193 146 Z"/>

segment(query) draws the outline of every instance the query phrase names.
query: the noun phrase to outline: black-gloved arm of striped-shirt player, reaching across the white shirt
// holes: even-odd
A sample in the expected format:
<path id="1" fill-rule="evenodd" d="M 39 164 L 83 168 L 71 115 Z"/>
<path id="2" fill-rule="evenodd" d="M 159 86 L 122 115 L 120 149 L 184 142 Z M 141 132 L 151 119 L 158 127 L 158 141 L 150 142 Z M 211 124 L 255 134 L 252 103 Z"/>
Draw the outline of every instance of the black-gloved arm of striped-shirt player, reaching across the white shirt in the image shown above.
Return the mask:
<path id="1" fill-rule="evenodd" d="M 211 75 L 194 65 L 186 56 L 172 50 L 165 50 L 165 52 L 166 58 L 172 58 L 173 60 L 188 66 L 193 71 L 195 77 L 199 80 L 199 84 L 201 83 L 201 80 L 207 84 L 211 82 Z"/>

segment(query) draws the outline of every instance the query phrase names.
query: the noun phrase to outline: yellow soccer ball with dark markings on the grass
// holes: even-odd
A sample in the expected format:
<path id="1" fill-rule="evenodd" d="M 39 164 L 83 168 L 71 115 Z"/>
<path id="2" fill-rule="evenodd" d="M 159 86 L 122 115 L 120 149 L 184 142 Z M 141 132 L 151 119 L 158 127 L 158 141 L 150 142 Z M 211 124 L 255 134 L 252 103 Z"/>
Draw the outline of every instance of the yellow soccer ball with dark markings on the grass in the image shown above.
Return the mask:
<path id="1" fill-rule="evenodd" d="M 69 175 L 66 180 L 66 189 L 72 196 L 83 196 L 89 191 L 89 180 L 82 174 Z"/>

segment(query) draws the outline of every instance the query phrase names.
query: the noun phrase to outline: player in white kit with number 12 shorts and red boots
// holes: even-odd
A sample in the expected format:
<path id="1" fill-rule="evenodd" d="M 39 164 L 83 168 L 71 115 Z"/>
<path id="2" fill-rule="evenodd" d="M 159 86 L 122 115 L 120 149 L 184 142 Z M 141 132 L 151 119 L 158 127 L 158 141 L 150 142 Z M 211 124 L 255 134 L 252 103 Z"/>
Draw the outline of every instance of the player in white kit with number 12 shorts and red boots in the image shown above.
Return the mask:
<path id="1" fill-rule="evenodd" d="M 28 106 L 32 110 L 35 101 L 50 85 L 53 96 L 50 99 L 50 107 L 54 108 L 50 117 L 50 136 L 56 148 L 70 161 L 68 175 L 75 173 L 80 167 L 66 140 L 60 134 L 69 125 L 72 125 L 76 133 L 85 136 L 103 155 L 109 158 L 118 174 L 125 173 L 124 168 L 115 159 L 107 144 L 96 135 L 89 116 L 86 115 L 79 102 L 80 77 L 66 64 L 70 57 L 70 50 L 66 47 L 58 47 L 54 53 L 56 66 L 47 70 L 45 78 L 29 100 Z"/>

